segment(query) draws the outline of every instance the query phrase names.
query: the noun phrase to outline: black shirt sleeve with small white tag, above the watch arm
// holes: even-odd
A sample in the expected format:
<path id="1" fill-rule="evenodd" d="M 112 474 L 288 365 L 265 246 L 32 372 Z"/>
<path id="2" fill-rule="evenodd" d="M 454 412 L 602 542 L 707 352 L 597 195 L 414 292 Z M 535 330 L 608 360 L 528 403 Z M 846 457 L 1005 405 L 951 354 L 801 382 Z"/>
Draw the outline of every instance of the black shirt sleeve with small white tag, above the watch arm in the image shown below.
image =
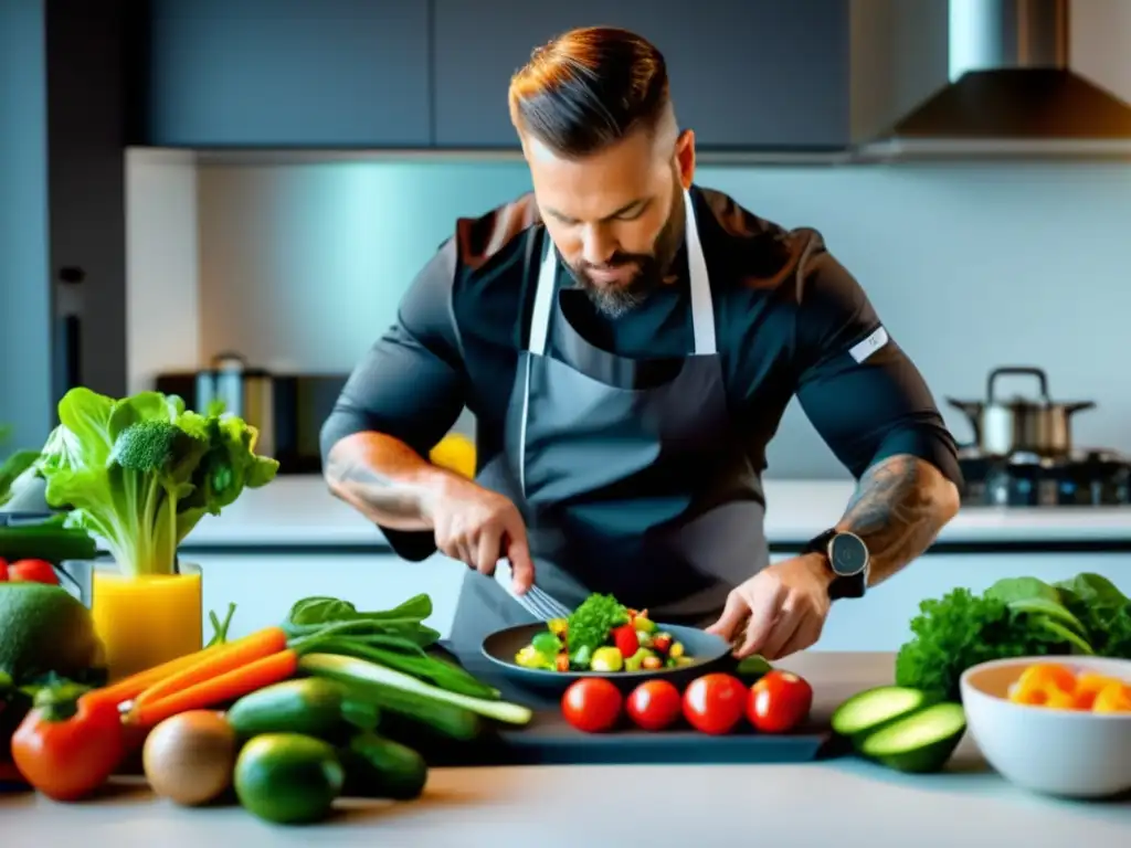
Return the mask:
<path id="1" fill-rule="evenodd" d="M 853 476 L 903 453 L 960 486 L 958 449 L 926 381 L 827 251 L 809 258 L 796 304 L 797 399 Z"/>

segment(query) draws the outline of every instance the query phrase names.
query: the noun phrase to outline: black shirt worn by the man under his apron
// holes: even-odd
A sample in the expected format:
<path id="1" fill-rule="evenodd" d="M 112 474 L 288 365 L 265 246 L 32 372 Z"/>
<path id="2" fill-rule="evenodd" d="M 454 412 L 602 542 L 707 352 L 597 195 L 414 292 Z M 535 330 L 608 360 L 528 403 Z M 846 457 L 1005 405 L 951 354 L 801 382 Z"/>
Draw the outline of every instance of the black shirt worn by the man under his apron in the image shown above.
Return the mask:
<path id="1" fill-rule="evenodd" d="M 696 187 L 692 198 L 731 413 L 753 467 L 766 467 L 766 445 L 796 396 L 855 477 L 909 453 L 960 483 L 955 441 L 926 383 L 820 234 L 786 231 L 717 191 Z M 529 227 L 543 227 L 530 194 L 457 222 L 349 377 L 322 429 L 323 457 L 363 431 L 426 456 L 465 406 L 476 416 L 480 466 L 502 450 L 537 282 L 538 262 L 525 269 Z M 619 318 L 595 310 L 580 291 L 566 293 L 563 311 L 592 344 L 618 355 L 683 357 L 693 336 L 682 252 L 676 270 L 679 282 Z M 572 285 L 562 268 L 558 285 Z M 409 559 L 434 550 L 431 534 L 385 533 Z"/>

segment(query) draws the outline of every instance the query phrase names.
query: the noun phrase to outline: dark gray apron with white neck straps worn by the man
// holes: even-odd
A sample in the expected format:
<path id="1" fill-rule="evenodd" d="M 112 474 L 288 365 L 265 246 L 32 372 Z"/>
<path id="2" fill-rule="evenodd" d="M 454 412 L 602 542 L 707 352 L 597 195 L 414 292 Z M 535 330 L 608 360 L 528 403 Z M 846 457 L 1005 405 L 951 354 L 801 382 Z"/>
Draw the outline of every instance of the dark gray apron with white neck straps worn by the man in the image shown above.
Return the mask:
<path id="1" fill-rule="evenodd" d="M 530 331 L 519 354 L 504 450 L 476 481 L 526 521 L 535 582 L 568 608 L 590 592 L 654 620 L 706 625 L 769 562 L 761 482 L 727 409 L 694 208 L 684 191 L 694 352 L 658 383 L 649 363 L 589 344 L 569 323 L 544 231 Z M 528 234 L 527 257 L 538 231 Z M 546 355 L 551 321 L 554 349 Z M 655 364 L 655 363 L 653 363 Z M 534 621 L 494 578 L 469 570 L 449 646 Z"/>

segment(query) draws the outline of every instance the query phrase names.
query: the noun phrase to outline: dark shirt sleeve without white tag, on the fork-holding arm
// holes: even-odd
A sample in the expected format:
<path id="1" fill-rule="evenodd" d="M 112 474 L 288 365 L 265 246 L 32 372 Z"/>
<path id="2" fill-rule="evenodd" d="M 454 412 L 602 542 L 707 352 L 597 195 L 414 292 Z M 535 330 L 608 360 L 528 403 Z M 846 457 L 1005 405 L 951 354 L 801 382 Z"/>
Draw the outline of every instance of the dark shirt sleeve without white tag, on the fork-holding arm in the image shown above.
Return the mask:
<path id="1" fill-rule="evenodd" d="M 456 244 L 449 240 L 413 280 L 392 326 L 346 380 L 322 425 L 323 461 L 338 441 L 363 432 L 394 436 L 426 457 L 455 424 L 466 398 L 451 311 L 455 272 Z M 435 551 L 431 530 L 380 529 L 405 559 L 423 560 Z"/>

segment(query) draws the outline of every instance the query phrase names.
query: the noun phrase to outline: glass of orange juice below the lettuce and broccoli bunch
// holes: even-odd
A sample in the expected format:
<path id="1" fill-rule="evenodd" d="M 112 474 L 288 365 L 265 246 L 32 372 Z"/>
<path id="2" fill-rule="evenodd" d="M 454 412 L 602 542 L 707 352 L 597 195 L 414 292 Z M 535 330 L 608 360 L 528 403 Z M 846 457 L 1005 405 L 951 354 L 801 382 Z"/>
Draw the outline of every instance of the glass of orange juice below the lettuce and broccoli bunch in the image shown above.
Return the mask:
<path id="1" fill-rule="evenodd" d="M 89 607 L 111 681 L 202 647 L 201 572 L 129 577 L 114 562 L 90 563 Z"/>

